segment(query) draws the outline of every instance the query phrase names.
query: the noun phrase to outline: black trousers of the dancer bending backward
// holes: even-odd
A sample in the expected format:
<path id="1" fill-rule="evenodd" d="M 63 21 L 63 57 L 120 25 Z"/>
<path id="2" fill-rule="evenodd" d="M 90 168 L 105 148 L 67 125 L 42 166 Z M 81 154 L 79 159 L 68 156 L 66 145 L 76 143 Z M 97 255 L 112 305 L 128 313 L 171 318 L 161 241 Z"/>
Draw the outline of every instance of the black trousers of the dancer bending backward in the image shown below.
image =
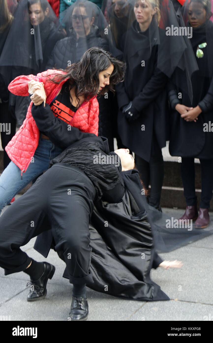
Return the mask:
<path id="1" fill-rule="evenodd" d="M 96 196 L 92 181 L 78 168 L 57 163 L 0 217 L 0 267 L 5 275 L 25 270 L 30 257 L 20 249 L 52 229 L 70 283 L 92 279 L 89 223 Z"/>

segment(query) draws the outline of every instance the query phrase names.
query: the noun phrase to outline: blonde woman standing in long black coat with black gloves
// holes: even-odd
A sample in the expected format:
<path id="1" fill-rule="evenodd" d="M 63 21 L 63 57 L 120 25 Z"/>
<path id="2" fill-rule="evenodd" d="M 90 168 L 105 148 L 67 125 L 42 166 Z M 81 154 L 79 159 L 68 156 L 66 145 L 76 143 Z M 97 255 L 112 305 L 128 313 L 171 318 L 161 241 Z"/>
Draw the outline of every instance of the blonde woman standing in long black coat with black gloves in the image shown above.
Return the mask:
<path id="1" fill-rule="evenodd" d="M 144 8 L 145 6 L 145 8 Z M 158 1 L 137 1 L 136 20 L 123 38 L 127 72 L 117 86 L 118 132 L 122 143 L 135 152 L 135 162 L 146 188 L 151 184 L 149 204 L 160 209 L 163 157 L 166 145 L 167 77 L 158 69 Z"/>

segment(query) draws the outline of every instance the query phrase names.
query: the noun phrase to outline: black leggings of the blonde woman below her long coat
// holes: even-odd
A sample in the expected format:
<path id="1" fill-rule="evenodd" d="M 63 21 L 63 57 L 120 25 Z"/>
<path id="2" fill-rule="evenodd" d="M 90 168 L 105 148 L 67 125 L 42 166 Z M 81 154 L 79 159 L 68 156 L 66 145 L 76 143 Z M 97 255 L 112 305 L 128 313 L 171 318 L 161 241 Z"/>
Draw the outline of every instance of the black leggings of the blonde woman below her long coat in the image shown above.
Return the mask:
<path id="1" fill-rule="evenodd" d="M 155 145 L 155 150 L 152 149 L 149 162 L 135 155 L 135 164 L 140 173 L 144 187 L 149 188 L 151 185 L 149 204 L 156 209 L 160 208 L 160 196 L 163 186 L 164 164 L 163 156 L 160 147 Z"/>

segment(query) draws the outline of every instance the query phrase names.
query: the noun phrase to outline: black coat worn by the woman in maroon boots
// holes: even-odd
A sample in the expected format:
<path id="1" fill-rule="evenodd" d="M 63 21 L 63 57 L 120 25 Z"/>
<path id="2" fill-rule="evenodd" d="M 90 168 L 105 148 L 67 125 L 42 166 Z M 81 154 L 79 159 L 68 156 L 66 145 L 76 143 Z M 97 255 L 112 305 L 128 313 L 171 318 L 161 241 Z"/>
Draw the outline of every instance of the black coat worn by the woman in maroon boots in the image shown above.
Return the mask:
<path id="1" fill-rule="evenodd" d="M 188 94 L 174 86 L 172 79 L 168 85 L 172 107 L 170 110 L 169 152 L 172 156 L 213 158 L 213 132 L 203 131 L 203 124 L 213 121 L 213 74 L 209 68 L 210 63 L 213 63 L 213 23 L 208 21 L 207 25 L 207 28 L 205 24 L 198 28 L 192 28 L 190 42 L 195 56 L 198 45 L 208 42 L 208 46 L 202 49 L 203 58 L 196 56 L 199 70 L 195 71 L 191 77 L 192 103 Z M 173 78 L 178 78 L 178 84 L 186 82 L 186 76 L 182 70 L 178 69 L 174 74 Z M 178 98 L 178 93 L 182 94 L 182 99 Z M 197 122 L 187 122 L 181 118 L 181 115 L 175 110 L 178 103 L 189 107 L 199 105 L 202 113 L 198 116 Z"/>

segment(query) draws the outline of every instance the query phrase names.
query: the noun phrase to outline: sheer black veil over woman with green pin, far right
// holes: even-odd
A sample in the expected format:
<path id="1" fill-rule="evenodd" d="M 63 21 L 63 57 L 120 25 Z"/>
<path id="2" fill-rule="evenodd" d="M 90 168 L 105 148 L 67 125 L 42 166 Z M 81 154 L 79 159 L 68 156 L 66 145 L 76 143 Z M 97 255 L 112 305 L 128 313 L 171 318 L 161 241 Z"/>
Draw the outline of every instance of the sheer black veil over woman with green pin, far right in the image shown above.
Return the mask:
<path id="1" fill-rule="evenodd" d="M 207 20 L 198 27 L 192 27 L 189 23 L 189 9 L 194 5 L 207 8 Z M 190 8 L 189 8 L 190 7 Z M 178 9 L 177 16 L 179 25 L 185 27 L 190 32 L 190 39 L 183 36 L 187 49 L 184 51 L 182 64 L 177 66 L 172 75 L 171 81 L 176 86 L 178 92 L 185 93 L 185 105 L 194 107 L 197 105 L 197 82 L 204 82 L 210 85 L 213 76 L 213 17 L 212 17 L 212 0 L 194 1 L 186 0 L 183 7 Z M 195 20 L 195 19 L 193 19 Z M 173 88 L 173 85 L 171 88 Z M 207 87 L 208 89 L 208 87 Z M 194 94 L 193 94 L 194 93 Z"/>

